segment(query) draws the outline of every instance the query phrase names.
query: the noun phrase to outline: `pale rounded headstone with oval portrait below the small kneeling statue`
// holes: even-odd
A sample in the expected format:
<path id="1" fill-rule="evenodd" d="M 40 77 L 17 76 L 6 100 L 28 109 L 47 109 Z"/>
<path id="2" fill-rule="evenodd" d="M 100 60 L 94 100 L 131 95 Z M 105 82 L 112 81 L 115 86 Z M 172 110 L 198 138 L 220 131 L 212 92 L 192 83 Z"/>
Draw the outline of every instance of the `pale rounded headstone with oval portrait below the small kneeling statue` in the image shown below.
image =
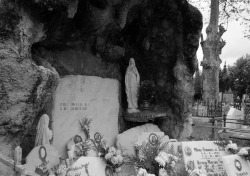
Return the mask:
<path id="1" fill-rule="evenodd" d="M 60 163 L 60 155 L 55 147 L 51 145 L 43 145 L 46 148 L 47 156 L 45 158 L 47 164 L 47 168 L 53 168 Z M 39 149 L 40 146 L 37 146 L 31 150 L 31 152 L 26 157 L 26 164 L 24 167 L 28 170 L 35 171 L 36 167 L 40 166 L 43 161 L 39 157 Z"/>

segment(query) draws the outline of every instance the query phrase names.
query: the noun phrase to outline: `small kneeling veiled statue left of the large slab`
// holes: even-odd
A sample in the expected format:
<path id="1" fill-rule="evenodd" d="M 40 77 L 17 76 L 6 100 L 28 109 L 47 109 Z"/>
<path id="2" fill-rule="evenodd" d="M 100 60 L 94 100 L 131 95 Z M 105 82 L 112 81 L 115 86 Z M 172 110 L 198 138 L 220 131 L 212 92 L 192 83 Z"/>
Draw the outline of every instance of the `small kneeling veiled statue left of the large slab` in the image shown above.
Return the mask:
<path id="1" fill-rule="evenodd" d="M 49 141 L 52 139 L 53 134 L 49 129 L 49 116 L 47 114 L 42 115 L 36 130 L 35 147 L 39 145 L 50 144 Z"/>

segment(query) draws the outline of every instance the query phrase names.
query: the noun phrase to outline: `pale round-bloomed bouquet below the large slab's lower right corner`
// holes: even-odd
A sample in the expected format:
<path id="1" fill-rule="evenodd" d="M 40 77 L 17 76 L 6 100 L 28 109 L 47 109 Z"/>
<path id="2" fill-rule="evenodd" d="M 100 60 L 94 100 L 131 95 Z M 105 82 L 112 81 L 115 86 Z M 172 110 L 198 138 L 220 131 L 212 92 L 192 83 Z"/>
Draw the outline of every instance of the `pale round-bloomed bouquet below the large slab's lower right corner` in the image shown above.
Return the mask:
<path id="1" fill-rule="evenodd" d="M 121 170 L 121 165 L 123 164 L 123 157 L 121 155 L 121 151 L 117 150 L 115 147 L 110 147 L 107 149 L 107 153 L 105 155 L 105 160 L 108 165 L 110 165 L 113 170 L 119 172 Z"/>

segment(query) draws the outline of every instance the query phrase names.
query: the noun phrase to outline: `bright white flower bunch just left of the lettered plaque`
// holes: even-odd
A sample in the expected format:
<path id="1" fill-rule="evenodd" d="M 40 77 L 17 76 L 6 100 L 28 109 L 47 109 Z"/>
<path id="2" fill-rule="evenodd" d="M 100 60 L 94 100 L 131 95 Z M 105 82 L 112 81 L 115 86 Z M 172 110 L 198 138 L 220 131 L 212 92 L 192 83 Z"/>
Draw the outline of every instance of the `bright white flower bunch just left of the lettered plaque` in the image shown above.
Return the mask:
<path id="1" fill-rule="evenodd" d="M 155 161 L 159 164 L 160 169 L 170 173 L 174 171 L 175 163 L 178 161 L 178 158 L 177 156 L 161 151 L 155 157 Z"/>

